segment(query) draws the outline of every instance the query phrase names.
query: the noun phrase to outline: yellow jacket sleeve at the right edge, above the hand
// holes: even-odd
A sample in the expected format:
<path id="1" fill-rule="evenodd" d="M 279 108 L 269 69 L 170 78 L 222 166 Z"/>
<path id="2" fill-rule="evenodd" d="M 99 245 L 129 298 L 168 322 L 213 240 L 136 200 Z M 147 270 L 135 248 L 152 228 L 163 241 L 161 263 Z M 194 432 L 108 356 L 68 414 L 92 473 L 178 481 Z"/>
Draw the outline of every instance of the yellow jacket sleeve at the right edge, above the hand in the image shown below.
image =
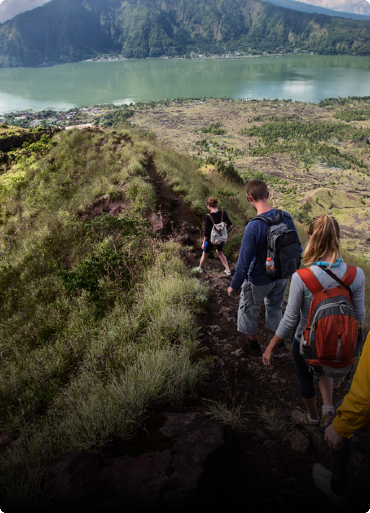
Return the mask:
<path id="1" fill-rule="evenodd" d="M 351 390 L 338 408 L 333 426 L 343 438 L 351 437 L 360 427 L 370 431 L 370 331 L 362 349 Z"/>

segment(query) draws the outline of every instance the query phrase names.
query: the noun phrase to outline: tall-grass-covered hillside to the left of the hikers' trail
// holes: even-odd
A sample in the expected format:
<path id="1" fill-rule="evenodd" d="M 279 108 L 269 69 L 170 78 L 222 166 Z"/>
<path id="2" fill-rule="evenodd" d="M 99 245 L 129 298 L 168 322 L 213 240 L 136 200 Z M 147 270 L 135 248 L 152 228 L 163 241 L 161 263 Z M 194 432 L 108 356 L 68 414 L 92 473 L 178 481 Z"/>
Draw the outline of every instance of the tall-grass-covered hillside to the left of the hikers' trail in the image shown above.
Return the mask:
<path id="1" fill-rule="evenodd" d="M 0 176 L 5 510 L 35 500 L 59 453 L 129 437 L 149 404 L 181 401 L 205 371 L 192 354 L 207 290 L 147 221 L 148 159 L 179 165 L 171 152 L 122 131 L 32 144 Z"/>

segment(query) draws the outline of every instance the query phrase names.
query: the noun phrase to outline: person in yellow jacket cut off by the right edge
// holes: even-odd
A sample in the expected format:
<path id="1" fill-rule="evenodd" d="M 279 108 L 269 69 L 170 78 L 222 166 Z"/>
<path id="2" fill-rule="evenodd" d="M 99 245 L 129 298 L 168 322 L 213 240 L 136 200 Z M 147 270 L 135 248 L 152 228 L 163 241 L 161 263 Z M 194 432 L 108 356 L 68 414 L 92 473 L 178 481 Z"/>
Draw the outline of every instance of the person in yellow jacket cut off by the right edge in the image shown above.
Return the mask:
<path id="1" fill-rule="evenodd" d="M 319 463 L 312 469 L 316 485 L 338 507 L 347 504 L 345 486 L 352 452 L 351 437 L 360 427 L 370 432 L 370 332 L 362 349 L 351 390 L 338 403 L 333 424 L 325 429 L 332 472 Z"/>

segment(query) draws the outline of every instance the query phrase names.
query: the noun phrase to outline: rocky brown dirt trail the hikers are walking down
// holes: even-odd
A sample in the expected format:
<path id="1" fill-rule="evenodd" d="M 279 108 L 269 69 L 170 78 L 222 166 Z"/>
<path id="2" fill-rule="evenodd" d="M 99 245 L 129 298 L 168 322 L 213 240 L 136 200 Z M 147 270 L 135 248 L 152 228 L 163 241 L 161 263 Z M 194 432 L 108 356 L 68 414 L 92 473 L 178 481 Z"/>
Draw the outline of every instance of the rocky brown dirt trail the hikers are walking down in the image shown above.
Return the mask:
<path id="1" fill-rule="evenodd" d="M 163 183 L 154 166 L 150 174 L 161 194 L 165 194 L 165 202 L 173 199 L 172 190 Z M 202 235 L 199 220 L 195 225 L 194 217 L 183 206 L 181 198 L 175 199 L 174 213 L 177 219 L 181 219 L 178 214 L 184 213 L 186 221 L 181 227 L 182 242 L 185 247 L 197 243 L 195 250 L 187 252 L 187 260 L 190 267 L 198 265 Z M 192 229 L 186 233 L 189 225 Z M 196 226 L 199 231 L 194 231 Z M 173 234 L 175 232 L 176 227 Z M 230 259 L 232 273 L 236 262 L 237 254 L 233 254 Z M 307 508 L 307 511 L 312 508 L 331 510 L 330 502 L 312 480 L 314 463 L 330 468 L 328 449 L 323 441 L 324 430 L 297 426 L 291 421 L 293 409 L 304 409 L 291 344 L 287 344 L 287 355 L 274 358 L 274 369 L 263 366 L 261 357 L 247 356 L 237 342 L 240 336 L 236 329 L 238 301 L 227 294 L 231 279 L 223 273 L 217 257 L 208 260 L 199 280 L 208 282 L 211 299 L 207 310 L 197 319 L 197 344 L 199 352 L 209 354 L 214 363 L 208 380 L 198 392 L 199 399 L 188 408 L 202 413 L 212 400 L 227 404 L 229 409 L 240 406 L 251 432 L 238 435 L 232 430 L 225 430 L 225 445 L 217 449 L 204 465 L 203 476 L 194 494 L 196 502 L 206 505 L 215 498 L 217 504 L 221 502 L 230 506 L 242 504 L 248 498 L 250 504 L 264 505 L 268 509 L 284 506 L 289 509 L 299 507 L 300 510 Z M 273 333 L 264 327 L 263 304 L 258 313 L 258 333 L 260 345 L 266 347 Z M 344 386 L 336 383 L 334 404 L 344 394 Z M 317 397 L 320 408 L 319 393 Z M 263 412 L 267 413 L 267 419 L 263 418 Z M 367 511 L 370 506 L 367 463 L 370 438 L 361 431 L 354 439 L 348 470 L 348 497 L 352 511 Z"/>

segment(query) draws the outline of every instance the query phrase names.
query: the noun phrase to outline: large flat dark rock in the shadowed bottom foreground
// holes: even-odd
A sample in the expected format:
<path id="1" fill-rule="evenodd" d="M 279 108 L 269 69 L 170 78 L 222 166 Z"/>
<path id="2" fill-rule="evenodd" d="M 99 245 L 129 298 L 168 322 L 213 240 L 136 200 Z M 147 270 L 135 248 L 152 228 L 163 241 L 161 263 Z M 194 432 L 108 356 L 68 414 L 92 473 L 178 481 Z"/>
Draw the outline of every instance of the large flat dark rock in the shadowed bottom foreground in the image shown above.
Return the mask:
<path id="1" fill-rule="evenodd" d="M 43 474 L 44 507 L 53 510 L 156 510 L 180 507 L 198 487 L 203 463 L 223 444 L 223 428 L 199 413 L 165 413 L 171 448 L 136 457 L 97 451 L 65 453 Z"/>

